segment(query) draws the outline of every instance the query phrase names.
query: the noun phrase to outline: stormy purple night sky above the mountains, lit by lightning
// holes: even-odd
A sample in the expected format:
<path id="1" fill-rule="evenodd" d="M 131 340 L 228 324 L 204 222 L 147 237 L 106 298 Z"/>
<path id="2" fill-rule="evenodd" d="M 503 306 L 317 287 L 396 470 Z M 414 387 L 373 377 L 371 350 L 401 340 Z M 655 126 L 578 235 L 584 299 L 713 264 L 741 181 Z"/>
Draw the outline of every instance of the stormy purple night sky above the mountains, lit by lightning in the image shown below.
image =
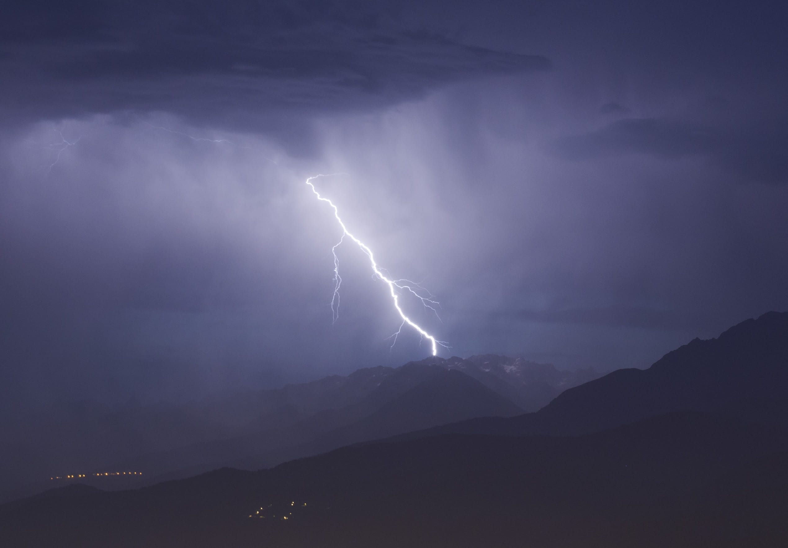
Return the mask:
<path id="1" fill-rule="evenodd" d="M 778 2 L 13 2 L 0 401 L 401 365 L 599 371 L 788 309 Z"/>

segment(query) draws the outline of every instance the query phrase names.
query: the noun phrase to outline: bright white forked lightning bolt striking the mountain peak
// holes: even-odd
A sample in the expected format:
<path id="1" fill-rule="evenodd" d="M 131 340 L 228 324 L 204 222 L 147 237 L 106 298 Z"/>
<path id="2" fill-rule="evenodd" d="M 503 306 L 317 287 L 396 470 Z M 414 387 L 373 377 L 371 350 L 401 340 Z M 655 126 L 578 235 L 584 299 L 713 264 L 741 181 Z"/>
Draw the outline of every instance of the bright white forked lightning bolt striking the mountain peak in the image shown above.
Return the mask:
<path id="1" fill-rule="evenodd" d="M 394 333 L 393 335 L 391 335 L 391 337 L 389 337 L 389 339 L 394 339 L 392 346 L 394 346 L 394 343 L 396 343 L 397 336 L 400 335 L 402 328 L 405 326 L 405 324 L 408 324 L 411 326 L 411 328 L 414 328 L 414 330 L 418 331 L 419 335 L 422 335 L 422 339 L 428 339 L 429 342 L 432 343 L 433 356 L 437 356 L 438 345 L 443 346 L 444 348 L 448 348 L 448 346 L 446 346 L 446 343 L 437 340 L 433 335 L 430 335 L 421 326 L 416 324 L 413 320 L 411 320 L 411 318 L 405 315 L 403 309 L 400 307 L 400 294 L 397 292 L 397 290 L 408 291 L 411 294 L 414 294 L 416 298 L 422 301 L 423 305 L 425 305 L 429 309 L 432 309 L 433 312 L 436 313 L 436 315 L 437 315 L 437 310 L 434 308 L 433 305 L 439 305 L 439 303 L 433 300 L 432 298 L 433 295 L 430 294 L 429 291 L 426 291 L 418 283 L 411 282 L 410 280 L 391 280 L 390 278 L 388 278 L 388 276 L 384 274 L 383 269 L 381 269 L 377 265 L 372 250 L 370 250 L 370 248 L 367 247 L 366 244 L 364 244 L 360 239 L 356 238 L 354 235 L 351 234 L 350 231 L 348 231 L 348 227 L 346 227 L 344 222 L 342 221 L 342 218 L 340 217 L 339 209 L 336 208 L 336 205 L 334 205 L 334 203 L 331 200 L 329 200 L 329 198 L 323 198 L 318 192 L 318 189 L 316 189 L 314 187 L 314 184 L 312 184 L 312 181 L 318 179 L 318 177 L 328 177 L 332 175 L 339 175 L 339 174 L 332 173 L 330 175 L 323 175 L 321 173 L 319 175 L 312 176 L 307 179 L 307 185 L 312 189 L 314 195 L 318 197 L 318 200 L 320 200 L 321 202 L 325 202 L 331 206 L 331 209 L 334 210 L 334 218 L 342 228 L 342 237 L 340 238 L 340 241 L 331 248 L 331 252 L 334 256 L 334 294 L 333 294 L 333 298 L 331 299 L 331 311 L 333 313 L 333 320 L 336 321 L 336 318 L 339 317 L 339 302 L 340 302 L 339 291 L 340 291 L 340 285 L 342 284 L 342 278 L 340 277 L 340 271 L 339 271 L 339 258 L 336 257 L 336 248 L 339 247 L 340 244 L 344 242 L 345 236 L 347 236 L 348 238 L 353 240 L 353 242 L 357 246 L 359 246 L 359 248 L 364 252 L 364 254 L 366 254 L 367 257 L 369 257 L 370 266 L 372 267 L 372 272 L 374 272 L 374 276 L 377 277 L 378 280 L 381 280 L 386 285 L 388 285 L 388 292 L 391 294 L 394 308 L 402 318 L 402 324 L 400 324 L 400 328 L 396 331 L 396 333 Z M 426 291 L 427 296 L 425 297 L 422 294 L 420 294 L 418 291 L 414 289 L 414 287 L 417 287 L 422 291 Z"/>

